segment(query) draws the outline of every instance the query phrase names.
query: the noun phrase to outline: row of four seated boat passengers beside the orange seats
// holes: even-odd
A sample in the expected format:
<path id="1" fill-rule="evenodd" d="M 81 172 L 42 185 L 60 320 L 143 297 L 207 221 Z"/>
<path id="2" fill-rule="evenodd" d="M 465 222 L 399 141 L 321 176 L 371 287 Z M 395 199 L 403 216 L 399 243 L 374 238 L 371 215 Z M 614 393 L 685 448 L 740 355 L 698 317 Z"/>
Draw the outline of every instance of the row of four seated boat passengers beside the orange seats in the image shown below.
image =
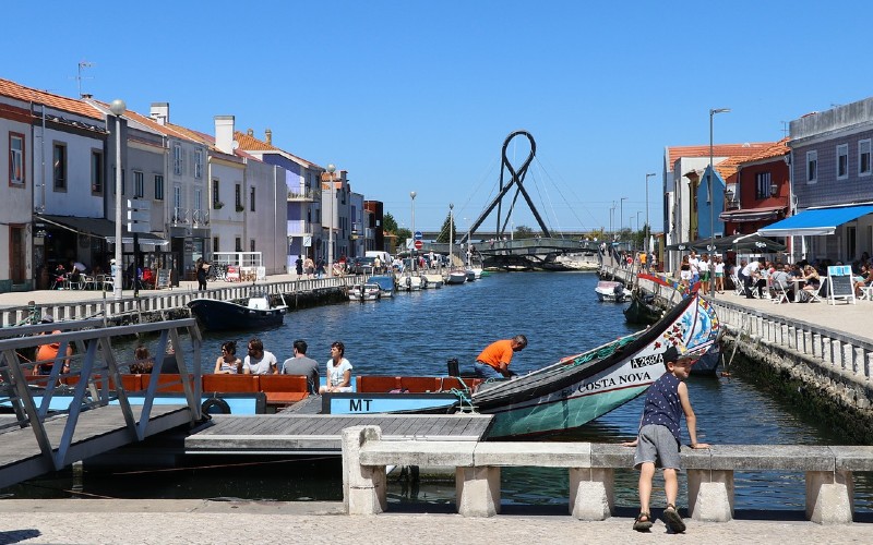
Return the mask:
<path id="1" fill-rule="evenodd" d="M 331 343 L 331 359 L 325 365 L 326 382 L 320 386 L 319 362 L 307 355 L 307 341 L 294 341 L 294 355 L 279 365 L 276 355 L 264 350 L 264 342 L 258 337 L 249 340 L 244 358 L 237 356 L 237 342 L 222 343 L 222 355 L 215 361 L 216 374 L 229 375 L 302 375 L 307 377 L 310 393 L 351 391 L 351 363 L 346 360 L 346 346 L 340 341 Z"/>

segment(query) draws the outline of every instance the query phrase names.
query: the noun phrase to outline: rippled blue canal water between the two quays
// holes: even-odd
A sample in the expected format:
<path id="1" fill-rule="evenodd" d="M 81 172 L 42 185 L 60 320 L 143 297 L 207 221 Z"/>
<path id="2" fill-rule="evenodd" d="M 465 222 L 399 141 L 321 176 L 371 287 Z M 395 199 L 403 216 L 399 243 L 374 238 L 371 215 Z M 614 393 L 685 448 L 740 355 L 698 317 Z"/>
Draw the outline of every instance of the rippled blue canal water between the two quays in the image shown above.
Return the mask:
<path id="1" fill-rule="evenodd" d="M 601 303 L 593 272 L 492 274 L 475 282 L 439 290 L 397 293 L 391 300 L 340 303 L 294 312 L 282 327 L 259 331 L 266 350 L 279 362 L 291 355 L 295 339 L 309 343 L 319 362 L 330 359 L 335 340 L 346 346 L 355 374 L 435 375 L 446 372 L 446 361 L 457 358 L 462 371 L 471 371 L 479 351 L 493 340 L 524 334 L 526 350 L 515 354 L 512 367 L 519 374 L 583 352 L 635 330 L 622 314 L 623 305 Z M 220 343 L 239 342 L 244 352 L 252 334 L 204 334 L 203 365 L 210 372 Z M 123 343 L 119 350 L 132 352 Z M 752 367 L 753 368 L 753 367 Z M 207 371 L 210 370 L 210 371 Z M 820 423 L 815 414 L 799 413 L 790 400 L 774 399 L 754 376 L 689 379 L 697 414 L 698 439 L 710 444 L 850 444 Z M 642 398 L 619 408 L 573 434 L 551 440 L 618 443 L 632 439 L 637 429 Z M 683 429 L 683 433 L 686 432 Z M 684 441 L 687 443 L 685 435 Z M 190 458 L 174 468 L 141 467 L 108 472 L 88 469 L 82 476 L 61 472 L 0 491 L 14 497 L 123 497 L 216 498 L 276 500 L 342 499 L 340 464 L 336 457 L 306 459 Z M 617 471 L 617 502 L 634 506 L 637 474 Z M 680 479 L 684 498 L 685 479 Z M 802 474 L 738 472 L 738 510 L 802 510 Z M 453 481 L 409 486 L 390 485 L 392 501 L 450 504 Z M 503 470 L 504 504 L 566 504 L 566 471 L 550 469 Z M 656 481 L 653 505 L 663 504 L 662 484 Z M 873 511 L 873 479 L 856 475 L 856 509 Z M 659 502 L 660 501 L 660 502 Z"/>

